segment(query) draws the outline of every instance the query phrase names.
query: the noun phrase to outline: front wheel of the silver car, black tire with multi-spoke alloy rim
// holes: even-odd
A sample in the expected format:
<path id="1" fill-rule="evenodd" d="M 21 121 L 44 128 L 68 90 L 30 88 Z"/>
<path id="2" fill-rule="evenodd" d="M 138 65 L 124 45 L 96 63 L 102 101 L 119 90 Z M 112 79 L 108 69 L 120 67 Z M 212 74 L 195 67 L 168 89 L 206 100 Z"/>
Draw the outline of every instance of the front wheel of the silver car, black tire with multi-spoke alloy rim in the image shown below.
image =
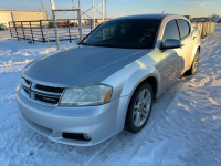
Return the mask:
<path id="1" fill-rule="evenodd" d="M 147 123 L 154 102 L 152 89 L 148 83 L 143 83 L 135 91 L 127 111 L 125 129 L 137 133 Z"/>

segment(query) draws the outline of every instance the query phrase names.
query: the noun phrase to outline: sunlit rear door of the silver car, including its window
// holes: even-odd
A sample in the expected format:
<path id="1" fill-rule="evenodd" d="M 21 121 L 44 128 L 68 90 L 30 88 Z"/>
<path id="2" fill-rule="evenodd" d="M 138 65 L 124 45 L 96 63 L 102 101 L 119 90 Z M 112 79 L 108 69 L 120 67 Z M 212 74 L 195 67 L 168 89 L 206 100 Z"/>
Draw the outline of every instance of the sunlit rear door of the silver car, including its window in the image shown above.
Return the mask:
<path id="1" fill-rule="evenodd" d="M 191 28 L 188 21 L 178 19 L 178 24 L 181 32 L 182 49 L 185 51 L 185 71 L 191 66 L 191 55 L 194 48 L 194 38 L 191 37 Z"/>

